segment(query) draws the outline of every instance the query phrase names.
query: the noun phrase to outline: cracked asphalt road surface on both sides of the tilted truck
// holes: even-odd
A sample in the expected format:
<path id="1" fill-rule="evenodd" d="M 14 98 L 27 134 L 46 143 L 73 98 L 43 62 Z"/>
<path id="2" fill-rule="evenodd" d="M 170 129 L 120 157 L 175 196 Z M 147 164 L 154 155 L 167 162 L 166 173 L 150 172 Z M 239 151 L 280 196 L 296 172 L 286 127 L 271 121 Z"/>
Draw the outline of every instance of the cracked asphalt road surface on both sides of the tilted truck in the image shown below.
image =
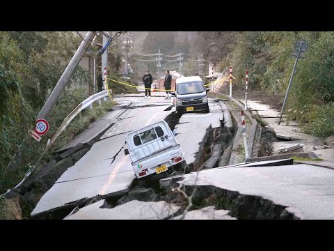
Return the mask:
<path id="1" fill-rule="evenodd" d="M 107 119 L 104 123 L 108 123 L 108 125 L 101 126 L 103 121 L 97 123 L 100 125 L 99 128 L 112 126 L 104 132 L 99 141 L 95 142 L 86 155 L 58 178 L 52 188 L 38 201 L 31 216 L 96 195 L 111 196 L 116 193 L 122 195 L 122 193 L 128 192 L 135 176 L 129 155 L 124 155 L 122 151 L 125 147 L 125 134 L 138 127 L 165 119 L 172 112 L 175 112 L 175 107 L 170 109 L 173 100 L 166 100 L 164 96 L 157 94 L 150 100 L 144 99 L 143 95 L 139 94 L 117 96 L 115 101 L 118 102 L 120 109 L 106 115 Z M 191 153 L 189 155 L 190 161 L 193 161 L 193 153 L 199 149 L 198 142 L 205 135 L 205 130 L 196 132 L 198 131 L 196 128 L 199 125 L 208 128 L 210 123 L 218 126 L 219 119 L 223 119 L 219 109 L 220 107 L 212 102 L 210 114 L 182 115 L 186 121 L 192 124 L 193 130 L 189 130 L 189 125 L 181 126 L 179 128 L 180 138 L 177 141 L 181 147 L 187 145 L 187 153 Z M 189 135 L 189 132 L 190 134 L 197 133 L 196 142 L 193 142 L 193 137 Z M 92 131 L 89 134 L 93 137 L 96 132 Z M 80 135 L 78 137 L 85 138 Z M 80 142 L 78 139 L 74 140 Z"/>

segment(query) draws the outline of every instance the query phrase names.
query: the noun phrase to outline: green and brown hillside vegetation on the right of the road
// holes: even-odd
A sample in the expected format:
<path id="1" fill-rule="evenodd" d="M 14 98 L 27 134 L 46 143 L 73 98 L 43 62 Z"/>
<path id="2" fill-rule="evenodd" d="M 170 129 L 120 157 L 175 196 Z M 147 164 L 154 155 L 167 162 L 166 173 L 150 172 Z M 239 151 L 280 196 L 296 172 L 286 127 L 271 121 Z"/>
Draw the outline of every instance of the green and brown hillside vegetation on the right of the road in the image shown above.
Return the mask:
<path id="1" fill-rule="evenodd" d="M 296 119 L 312 135 L 334 135 L 334 32 L 205 31 L 198 32 L 195 46 L 208 61 L 225 70 L 232 66 L 235 88 L 244 89 L 248 70 L 249 91 L 265 90 L 284 100 L 298 40 L 305 40 L 309 47 L 296 66 L 285 108 L 287 119 Z"/>

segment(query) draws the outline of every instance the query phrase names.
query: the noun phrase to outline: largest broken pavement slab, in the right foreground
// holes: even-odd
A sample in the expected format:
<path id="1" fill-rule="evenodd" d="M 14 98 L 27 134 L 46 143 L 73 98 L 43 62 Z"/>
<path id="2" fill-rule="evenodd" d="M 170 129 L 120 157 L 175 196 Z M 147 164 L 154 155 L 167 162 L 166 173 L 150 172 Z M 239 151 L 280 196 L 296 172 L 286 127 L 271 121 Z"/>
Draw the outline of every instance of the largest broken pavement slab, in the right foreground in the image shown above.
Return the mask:
<path id="1" fill-rule="evenodd" d="M 240 195 L 260 197 L 285 207 L 287 213 L 300 219 L 334 219 L 332 169 L 314 165 L 216 168 L 200 171 L 196 176 L 186 174 L 178 183 L 214 186 Z"/>

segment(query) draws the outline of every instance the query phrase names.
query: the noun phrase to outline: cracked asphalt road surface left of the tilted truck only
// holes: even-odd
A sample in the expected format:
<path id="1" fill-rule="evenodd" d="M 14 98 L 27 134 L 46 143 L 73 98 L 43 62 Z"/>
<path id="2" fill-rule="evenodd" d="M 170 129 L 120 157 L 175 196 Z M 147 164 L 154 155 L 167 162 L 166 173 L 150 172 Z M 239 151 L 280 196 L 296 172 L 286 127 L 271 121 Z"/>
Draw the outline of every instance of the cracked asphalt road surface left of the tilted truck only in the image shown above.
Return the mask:
<path id="1" fill-rule="evenodd" d="M 112 118 L 107 120 L 108 126 L 111 123 L 114 125 L 81 160 L 58 178 L 54 186 L 38 201 L 31 215 L 79 199 L 110 195 L 113 192 L 127 192 L 135 176 L 128 155 L 124 155 L 122 151 L 125 146 L 125 133 L 138 126 L 164 119 L 173 112 L 164 111 L 172 105 L 170 100 L 164 100 L 162 97 L 154 99 L 161 101 L 159 105 L 153 105 L 153 102 L 138 96 L 115 98 L 115 101 L 125 108 L 123 111 L 118 109 L 107 115 L 108 118 Z M 122 100 L 127 100 L 127 104 L 122 103 Z M 153 101 L 153 98 L 151 100 Z M 162 103 L 164 105 L 161 105 Z"/>

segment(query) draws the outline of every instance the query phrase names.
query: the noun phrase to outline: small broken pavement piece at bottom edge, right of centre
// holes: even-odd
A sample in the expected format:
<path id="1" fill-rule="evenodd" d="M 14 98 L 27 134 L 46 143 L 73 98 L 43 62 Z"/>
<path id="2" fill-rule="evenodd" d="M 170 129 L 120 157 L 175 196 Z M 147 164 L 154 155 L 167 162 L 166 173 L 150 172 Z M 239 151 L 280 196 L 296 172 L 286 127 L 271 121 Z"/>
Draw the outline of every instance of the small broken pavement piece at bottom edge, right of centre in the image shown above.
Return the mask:
<path id="1" fill-rule="evenodd" d="M 229 210 L 216 210 L 214 206 L 207 206 L 198 210 L 189 211 L 184 218 L 178 215 L 170 220 L 237 220 L 228 215 Z"/>

